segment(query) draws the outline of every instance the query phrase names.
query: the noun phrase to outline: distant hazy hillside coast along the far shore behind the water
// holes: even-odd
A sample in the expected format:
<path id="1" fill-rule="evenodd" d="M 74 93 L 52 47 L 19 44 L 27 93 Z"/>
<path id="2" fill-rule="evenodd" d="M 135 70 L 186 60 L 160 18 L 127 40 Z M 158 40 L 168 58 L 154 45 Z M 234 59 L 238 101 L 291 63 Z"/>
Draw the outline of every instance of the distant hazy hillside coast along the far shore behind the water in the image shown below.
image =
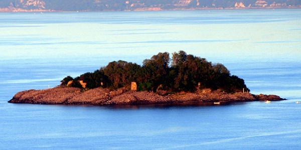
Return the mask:
<path id="1" fill-rule="evenodd" d="M 1 0 L 0 12 L 301 8 L 301 0 Z"/>

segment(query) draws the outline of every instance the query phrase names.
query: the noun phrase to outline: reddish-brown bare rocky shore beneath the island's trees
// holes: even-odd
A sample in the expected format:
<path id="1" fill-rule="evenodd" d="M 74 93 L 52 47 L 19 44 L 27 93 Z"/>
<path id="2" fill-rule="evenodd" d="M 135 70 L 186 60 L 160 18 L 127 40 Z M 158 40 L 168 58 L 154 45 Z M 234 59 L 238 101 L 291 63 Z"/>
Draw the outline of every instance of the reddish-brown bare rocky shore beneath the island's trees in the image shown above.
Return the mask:
<path id="1" fill-rule="evenodd" d="M 34 104 L 92 104 L 92 105 L 210 105 L 243 101 L 284 100 L 277 95 L 254 95 L 249 92 L 225 93 L 221 91 L 199 90 L 160 95 L 156 92 L 133 91 L 125 88 L 110 91 L 107 88 L 94 88 L 81 91 L 76 87 L 55 87 L 20 91 L 9 100 L 11 103 Z"/>

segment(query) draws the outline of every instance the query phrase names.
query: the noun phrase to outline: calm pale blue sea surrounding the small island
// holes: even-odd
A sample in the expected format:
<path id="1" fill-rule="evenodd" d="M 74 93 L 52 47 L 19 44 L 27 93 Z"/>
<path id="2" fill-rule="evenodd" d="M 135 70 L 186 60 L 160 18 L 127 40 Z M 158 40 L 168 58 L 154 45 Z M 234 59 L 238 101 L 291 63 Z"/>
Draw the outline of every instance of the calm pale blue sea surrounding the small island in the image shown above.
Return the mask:
<path id="1" fill-rule="evenodd" d="M 254 94 L 214 106 L 8 103 L 125 60 L 184 50 Z M 0 149 L 301 149 L 301 9 L 0 13 Z"/>

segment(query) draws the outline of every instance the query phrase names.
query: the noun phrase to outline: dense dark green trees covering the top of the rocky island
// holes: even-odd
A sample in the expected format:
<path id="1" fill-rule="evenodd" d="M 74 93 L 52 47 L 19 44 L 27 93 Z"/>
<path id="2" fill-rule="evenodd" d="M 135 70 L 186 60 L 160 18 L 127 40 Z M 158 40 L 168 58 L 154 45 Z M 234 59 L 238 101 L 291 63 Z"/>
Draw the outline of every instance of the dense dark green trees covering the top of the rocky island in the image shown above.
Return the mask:
<path id="1" fill-rule="evenodd" d="M 244 80 L 230 71 L 221 63 L 213 64 L 205 58 L 187 54 L 185 51 L 174 52 L 172 59 L 168 52 L 160 52 L 150 59 L 145 59 L 142 66 L 123 60 L 109 62 L 94 72 L 87 72 L 75 78 L 65 77 L 61 86 L 80 87 L 83 80 L 87 89 L 103 87 L 117 89 L 129 87 L 132 81 L 138 91 L 168 92 L 196 91 L 197 89 L 220 89 L 226 92 L 249 91 Z"/>

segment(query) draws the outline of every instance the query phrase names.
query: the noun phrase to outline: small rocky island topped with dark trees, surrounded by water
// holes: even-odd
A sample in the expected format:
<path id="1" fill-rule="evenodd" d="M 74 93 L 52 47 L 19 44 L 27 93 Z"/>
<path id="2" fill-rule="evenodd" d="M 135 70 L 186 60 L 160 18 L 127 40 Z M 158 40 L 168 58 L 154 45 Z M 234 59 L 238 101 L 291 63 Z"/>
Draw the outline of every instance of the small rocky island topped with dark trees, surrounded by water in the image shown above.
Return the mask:
<path id="1" fill-rule="evenodd" d="M 284 100 L 252 94 L 242 78 L 221 63 L 187 54 L 160 52 L 142 65 L 109 62 L 94 72 L 66 76 L 48 89 L 20 91 L 11 103 L 92 105 L 212 105 L 244 101 Z"/>

